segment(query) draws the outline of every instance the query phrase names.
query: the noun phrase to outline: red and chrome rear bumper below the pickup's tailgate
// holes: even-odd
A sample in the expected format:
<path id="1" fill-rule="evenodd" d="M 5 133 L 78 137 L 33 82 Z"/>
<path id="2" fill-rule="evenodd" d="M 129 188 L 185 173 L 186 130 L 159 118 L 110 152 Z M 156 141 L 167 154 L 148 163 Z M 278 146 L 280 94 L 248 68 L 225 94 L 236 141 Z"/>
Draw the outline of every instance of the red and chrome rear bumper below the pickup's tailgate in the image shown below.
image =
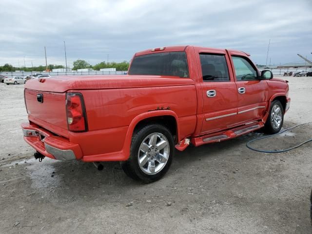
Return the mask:
<path id="1" fill-rule="evenodd" d="M 24 140 L 40 154 L 62 161 L 80 159 L 82 152 L 78 144 L 59 137 L 34 123 L 22 123 Z"/>

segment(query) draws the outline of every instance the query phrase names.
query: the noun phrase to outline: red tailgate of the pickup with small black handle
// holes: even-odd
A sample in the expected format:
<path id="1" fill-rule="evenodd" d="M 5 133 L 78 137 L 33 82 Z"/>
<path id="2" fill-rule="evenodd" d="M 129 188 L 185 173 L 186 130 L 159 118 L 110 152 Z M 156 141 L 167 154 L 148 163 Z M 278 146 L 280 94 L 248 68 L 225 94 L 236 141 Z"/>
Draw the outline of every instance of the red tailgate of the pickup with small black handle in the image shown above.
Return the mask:
<path id="1" fill-rule="evenodd" d="M 41 95 L 42 100 L 38 100 Z M 25 89 L 28 119 L 57 135 L 68 137 L 66 121 L 66 93 Z"/>

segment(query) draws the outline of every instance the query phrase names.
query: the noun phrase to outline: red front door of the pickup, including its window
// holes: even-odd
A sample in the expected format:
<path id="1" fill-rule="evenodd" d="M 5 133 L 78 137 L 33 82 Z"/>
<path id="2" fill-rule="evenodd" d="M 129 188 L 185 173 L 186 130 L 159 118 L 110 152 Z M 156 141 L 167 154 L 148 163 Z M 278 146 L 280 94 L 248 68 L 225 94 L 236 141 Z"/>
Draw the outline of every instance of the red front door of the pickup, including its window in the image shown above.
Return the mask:
<path id="1" fill-rule="evenodd" d="M 246 123 L 261 119 L 266 110 L 268 84 L 259 79 L 254 63 L 240 53 L 231 53 L 237 93 L 237 120 Z"/>

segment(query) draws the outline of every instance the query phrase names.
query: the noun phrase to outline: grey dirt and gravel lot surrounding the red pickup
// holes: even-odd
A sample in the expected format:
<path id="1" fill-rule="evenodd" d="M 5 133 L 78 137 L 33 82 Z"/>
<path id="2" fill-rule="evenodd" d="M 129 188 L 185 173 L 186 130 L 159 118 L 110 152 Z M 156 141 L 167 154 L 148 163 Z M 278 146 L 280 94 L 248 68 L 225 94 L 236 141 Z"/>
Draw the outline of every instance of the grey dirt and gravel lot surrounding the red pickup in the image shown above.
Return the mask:
<path id="1" fill-rule="evenodd" d="M 287 78 L 284 128 L 312 121 L 312 78 Z M 0 83 L 0 233 L 311 234 L 312 142 L 288 153 L 246 148 L 261 132 L 176 152 L 152 184 L 118 163 L 32 159 L 22 139 L 23 85 Z M 254 144 L 282 149 L 312 137 L 312 124 Z"/>

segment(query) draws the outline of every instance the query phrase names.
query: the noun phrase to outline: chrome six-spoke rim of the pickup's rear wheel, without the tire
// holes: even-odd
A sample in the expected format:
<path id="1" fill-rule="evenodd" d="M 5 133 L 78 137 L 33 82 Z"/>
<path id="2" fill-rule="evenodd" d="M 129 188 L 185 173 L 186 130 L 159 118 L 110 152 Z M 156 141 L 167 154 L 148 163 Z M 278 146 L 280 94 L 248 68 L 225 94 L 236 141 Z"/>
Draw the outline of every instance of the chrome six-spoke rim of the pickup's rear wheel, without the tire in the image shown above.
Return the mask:
<path id="1" fill-rule="evenodd" d="M 137 153 L 140 169 L 147 175 L 155 175 L 166 165 L 170 154 L 168 139 L 161 133 L 152 133 L 142 141 Z"/>

